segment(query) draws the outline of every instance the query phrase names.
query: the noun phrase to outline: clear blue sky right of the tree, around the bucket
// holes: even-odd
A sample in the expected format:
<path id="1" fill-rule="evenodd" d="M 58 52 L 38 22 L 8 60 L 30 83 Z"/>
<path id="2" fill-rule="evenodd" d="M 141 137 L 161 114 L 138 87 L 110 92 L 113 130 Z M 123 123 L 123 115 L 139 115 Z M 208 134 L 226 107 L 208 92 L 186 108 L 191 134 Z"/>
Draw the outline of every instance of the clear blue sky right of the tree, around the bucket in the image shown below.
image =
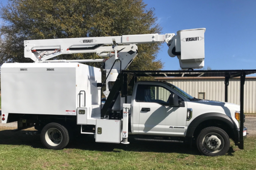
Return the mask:
<path id="1" fill-rule="evenodd" d="M 5 0 L 1 1 L 3 5 Z M 162 33 L 206 28 L 205 68 L 256 69 L 256 0 L 144 0 L 155 8 Z M 178 59 L 158 54 L 164 70 L 179 69 Z M 254 74 L 253 76 L 256 76 Z"/>

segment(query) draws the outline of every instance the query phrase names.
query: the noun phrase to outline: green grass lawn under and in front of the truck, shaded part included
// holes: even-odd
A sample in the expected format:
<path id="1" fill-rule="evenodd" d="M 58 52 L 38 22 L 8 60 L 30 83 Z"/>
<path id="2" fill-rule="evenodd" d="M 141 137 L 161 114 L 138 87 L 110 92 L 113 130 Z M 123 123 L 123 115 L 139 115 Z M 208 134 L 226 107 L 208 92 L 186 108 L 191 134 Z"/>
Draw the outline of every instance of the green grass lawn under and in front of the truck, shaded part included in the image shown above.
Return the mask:
<path id="1" fill-rule="evenodd" d="M 23 135 L 0 127 L 0 169 L 92 169 L 92 170 L 251 170 L 256 168 L 256 137 L 248 136 L 245 150 L 230 147 L 225 156 L 201 156 L 184 144 L 131 142 L 96 143 L 93 137 L 76 139 L 64 150 L 47 150 L 40 136 Z"/>

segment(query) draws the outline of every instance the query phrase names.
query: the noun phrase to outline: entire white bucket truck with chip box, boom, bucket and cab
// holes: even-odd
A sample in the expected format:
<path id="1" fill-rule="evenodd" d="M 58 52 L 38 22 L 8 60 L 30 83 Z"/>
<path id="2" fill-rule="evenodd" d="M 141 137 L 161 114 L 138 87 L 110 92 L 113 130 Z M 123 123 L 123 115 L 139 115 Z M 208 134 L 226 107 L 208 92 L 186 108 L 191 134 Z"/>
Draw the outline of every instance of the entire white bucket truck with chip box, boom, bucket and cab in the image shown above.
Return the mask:
<path id="1" fill-rule="evenodd" d="M 224 155 L 230 138 L 236 144 L 241 140 L 239 105 L 195 99 L 166 82 L 136 82 L 137 76 L 150 76 L 150 71 L 137 72 L 130 81 L 132 96 L 125 92 L 127 75 L 135 75 L 125 70 L 137 55 L 136 44 L 165 41 L 169 56 L 177 56 L 181 68 L 203 68 L 204 32 L 200 28 L 181 30 L 177 35 L 24 41 L 24 57 L 34 63 L 4 63 L 1 67 L 2 123 L 17 121 L 18 129 L 34 126 L 49 149 L 63 149 L 79 130 L 93 134 L 96 142 L 128 144 L 128 134 L 140 135 L 137 140 L 195 139 L 204 155 Z M 75 53 L 96 53 L 103 58 L 49 60 Z M 100 68 L 81 62 L 102 62 L 105 82 Z M 107 99 L 102 105 L 104 85 Z"/>

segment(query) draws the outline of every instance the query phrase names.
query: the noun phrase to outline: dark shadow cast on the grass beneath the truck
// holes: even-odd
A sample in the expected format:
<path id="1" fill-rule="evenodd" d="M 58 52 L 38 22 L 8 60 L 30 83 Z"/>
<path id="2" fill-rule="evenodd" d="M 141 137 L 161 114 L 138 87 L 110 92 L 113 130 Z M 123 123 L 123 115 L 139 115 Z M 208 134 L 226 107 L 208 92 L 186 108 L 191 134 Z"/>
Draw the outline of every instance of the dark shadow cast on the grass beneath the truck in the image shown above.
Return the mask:
<path id="1" fill-rule="evenodd" d="M 28 145 L 34 148 L 44 148 L 41 144 L 40 135 L 26 135 L 26 132 L 26 130 L 16 132 L 12 130 L 2 130 L 0 131 L 0 144 Z M 137 141 L 133 136 L 129 136 L 128 141 L 130 144 L 99 143 L 95 142 L 93 135 L 79 135 L 76 136 L 66 148 L 101 152 L 121 152 L 120 150 L 124 150 L 134 152 L 201 155 L 195 146 L 192 146 L 191 148 L 189 144 Z M 235 151 L 230 147 L 228 155 L 233 156 L 233 152 Z"/>

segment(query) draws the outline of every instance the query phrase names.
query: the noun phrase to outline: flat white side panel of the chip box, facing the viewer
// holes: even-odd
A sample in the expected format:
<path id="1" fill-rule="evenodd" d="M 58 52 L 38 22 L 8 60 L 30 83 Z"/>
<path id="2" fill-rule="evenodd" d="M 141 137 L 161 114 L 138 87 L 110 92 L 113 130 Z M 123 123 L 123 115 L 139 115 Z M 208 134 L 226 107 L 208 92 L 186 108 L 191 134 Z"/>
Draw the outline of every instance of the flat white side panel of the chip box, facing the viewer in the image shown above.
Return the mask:
<path id="1" fill-rule="evenodd" d="M 3 113 L 76 115 L 73 63 L 6 63 L 1 88 Z"/>

